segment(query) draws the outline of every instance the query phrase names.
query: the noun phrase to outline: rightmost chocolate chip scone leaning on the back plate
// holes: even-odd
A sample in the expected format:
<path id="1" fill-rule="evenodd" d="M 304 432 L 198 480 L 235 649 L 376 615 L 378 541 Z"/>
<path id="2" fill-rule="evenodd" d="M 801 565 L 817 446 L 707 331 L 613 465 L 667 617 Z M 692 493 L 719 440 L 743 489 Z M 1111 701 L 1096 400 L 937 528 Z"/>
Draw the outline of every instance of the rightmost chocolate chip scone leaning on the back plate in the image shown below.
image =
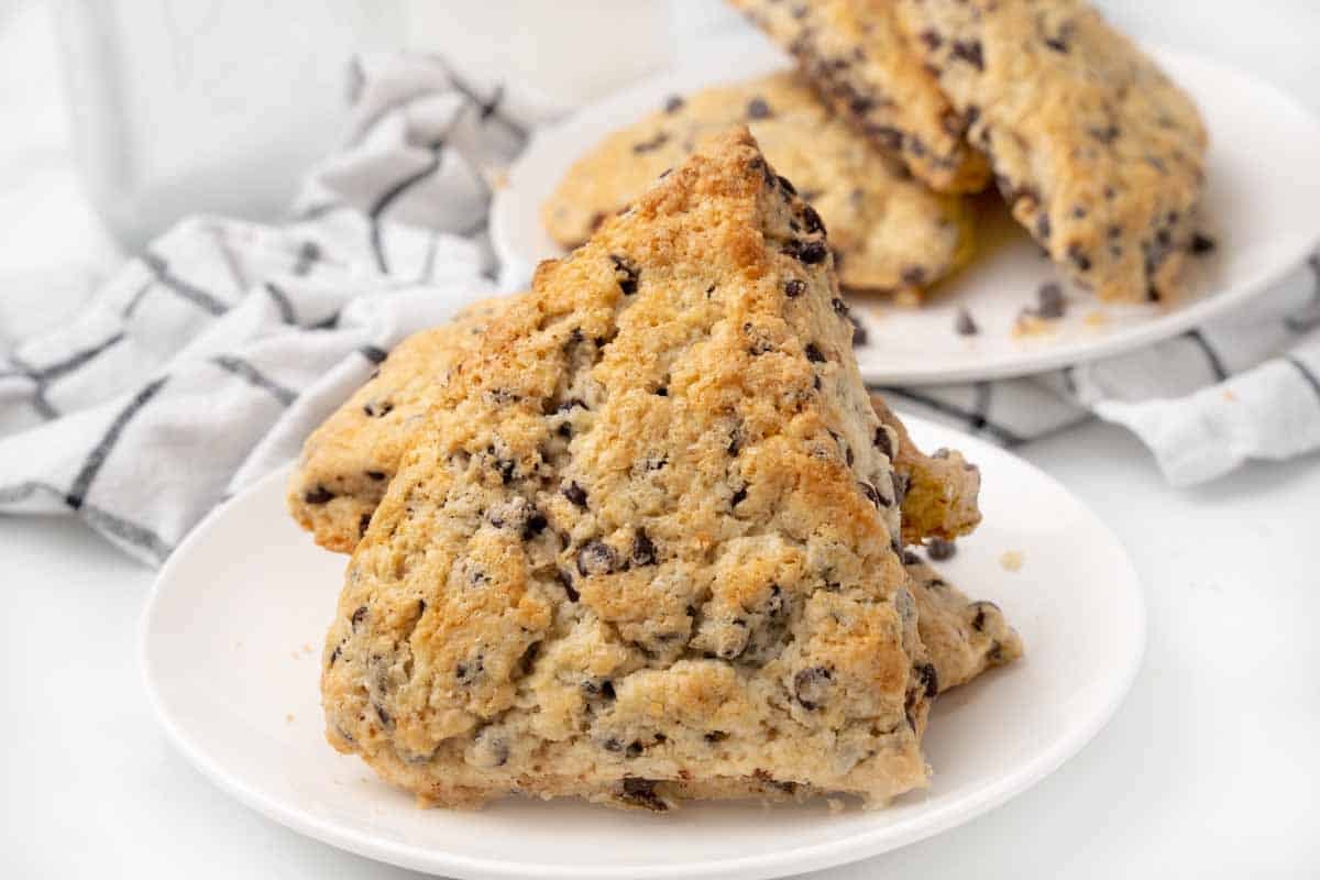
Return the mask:
<path id="1" fill-rule="evenodd" d="M 1162 299 L 1195 234 L 1196 104 L 1082 0 L 899 0 L 1012 215 L 1077 284 Z"/>

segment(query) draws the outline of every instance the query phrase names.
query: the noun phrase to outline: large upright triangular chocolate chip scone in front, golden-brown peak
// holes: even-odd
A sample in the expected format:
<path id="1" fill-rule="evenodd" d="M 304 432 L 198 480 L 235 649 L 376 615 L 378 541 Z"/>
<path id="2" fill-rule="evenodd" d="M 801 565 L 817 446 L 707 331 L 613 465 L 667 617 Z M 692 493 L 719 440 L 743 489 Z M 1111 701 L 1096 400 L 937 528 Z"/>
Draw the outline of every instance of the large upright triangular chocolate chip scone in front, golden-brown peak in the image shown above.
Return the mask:
<path id="1" fill-rule="evenodd" d="M 936 682 L 837 296 L 746 131 L 543 264 L 354 551 L 330 741 L 447 806 L 925 785 Z"/>

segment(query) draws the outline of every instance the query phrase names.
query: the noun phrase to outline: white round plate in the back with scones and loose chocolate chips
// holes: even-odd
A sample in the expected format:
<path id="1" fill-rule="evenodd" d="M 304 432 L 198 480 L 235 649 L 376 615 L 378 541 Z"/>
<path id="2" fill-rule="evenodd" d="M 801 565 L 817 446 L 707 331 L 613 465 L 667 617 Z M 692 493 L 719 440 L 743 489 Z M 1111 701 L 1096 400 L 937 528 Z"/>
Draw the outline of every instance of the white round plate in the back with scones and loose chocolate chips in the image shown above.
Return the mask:
<path id="1" fill-rule="evenodd" d="M 1218 249 L 1189 260 L 1188 293 L 1171 306 L 1117 306 L 1064 285 L 1069 307 L 1045 332 L 1015 334 L 1022 309 L 1057 280 L 1040 249 L 997 198 L 979 199 L 977 255 L 920 309 L 854 296 L 867 329 L 857 347 L 873 384 L 927 384 L 1019 376 L 1105 358 L 1173 336 L 1263 293 L 1320 243 L 1320 123 L 1291 98 L 1249 74 L 1183 51 L 1152 49 L 1196 99 L 1210 133 L 1205 230 Z M 543 129 L 495 197 L 491 235 L 506 281 L 523 285 L 539 260 L 564 249 L 545 234 L 540 207 L 569 166 L 606 133 L 660 107 L 665 96 L 737 82 L 787 66 L 762 40 L 739 38 L 704 62 L 667 73 Z M 958 309 L 981 332 L 954 332 Z"/>

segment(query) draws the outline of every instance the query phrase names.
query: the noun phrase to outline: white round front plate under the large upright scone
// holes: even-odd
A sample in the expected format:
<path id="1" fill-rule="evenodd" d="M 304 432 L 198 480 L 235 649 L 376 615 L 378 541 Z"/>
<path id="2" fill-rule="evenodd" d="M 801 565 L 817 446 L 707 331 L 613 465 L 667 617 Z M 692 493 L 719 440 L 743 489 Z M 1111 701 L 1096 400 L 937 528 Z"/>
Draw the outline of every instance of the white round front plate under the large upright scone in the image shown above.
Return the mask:
<path id="1" fill-rule="evenodd" d="M 777 877 L 927 838 L 1003 803 L 1074 755 L 1140 662 L 1144 607 L 1114 536 L 1061 486 L 985 442 L 916 418 L 928 449 L 985 476 L 985 525 L 941 566 L 993 599 L 1027 656 L 940 697 L 929 790 L 886 810 L 694 803 L 663 817 L 573 801 L 421 810 L 322 736 L 321 644 L 345 557 L 317 549 L 275 474 L 213 513 L 161 571 L 143 619 L 150 699 L 222 789 L 326 843 L 449 877 Z M 1023 565 L 1008 571 L 1006 551 Z"/>

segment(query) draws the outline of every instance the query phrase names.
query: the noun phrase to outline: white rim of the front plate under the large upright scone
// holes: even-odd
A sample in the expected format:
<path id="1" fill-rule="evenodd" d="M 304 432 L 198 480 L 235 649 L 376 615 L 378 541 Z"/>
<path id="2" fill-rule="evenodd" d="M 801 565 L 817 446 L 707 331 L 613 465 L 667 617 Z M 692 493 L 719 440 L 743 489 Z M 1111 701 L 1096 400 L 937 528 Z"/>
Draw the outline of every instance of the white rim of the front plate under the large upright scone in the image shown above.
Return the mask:
<path id="1" fill-rule="evenodd" d="M 826 840 L 737 858 L 665 865 L 539 865 L 531 862 L 474 858 L 445 850 L 422 848 L 412 843 L 384 842 L 358 829 L 313 817 L 294 805 L 267 796 L 259 788 L 244 784 L 242 777 L 227 772 L 218 759 L 206 752 L 201 743 L 194 741 L 168 710 L 168 701 L 157 682 L 157 673 L 152 658 L 152 624 L 160 612 L 161 596 L 166 588 L 165 584 L 174 579 L 174 570 L 183 565 L 182 561 L 187 558 L 191 548 L 201 544 L 214 529 L 219 528 L 226 511 L 236 501 L 268 491 L 271 483 L 280 483 L 282 486 L 293 467 L 292 462 L 255 480 L 247 488 L 215 507 L 176 548 L 165 565 L 161 566 L 160 573 L 152 583 L 150 594 L 137 625 L 137 661 L 148 702 L 157 722 L 164 728 L 166 739 L 170 740 L 174 748 L 202 776 L 244 806 L 321 843 L 378 862 L 432 875 L 444 873 L 445 876 L 477 877 L 482 880 L 524 880 L 527 877 L 540 880 L 606 880 L 619 876 L 635 877 L 638 880 L 661 880 L 669 877 L 723 877 L 729 880 L 741 877 L 743 880 L 760 880 L 849 864 L 928 839 L 985 815 L 990 810 L 1036 786 L 1080 753 L 1113 720 L 1131 691 L 1133 683 L 1144 664 L 1148 639 L 1148 610 L 1146 607 L 1140 577 L 1118 536 L 1114 534 L 1109 525 L 1085 501 L 1071 492 L 1063 483 L 1031 462 L 985 439 L 932 422 L 909 412 L 903 412 L 902 409 L 899 412 L 909 431 L 916 437 L 932 430 L 937 434 L 956 437 L 956 443 L 965 454 L 981 459 L 985 458 L 985 453 L 987 451 L 990 455 L 1003 455 L 1016 466 L 1028 468 L 1036 479 L 1043 480 L 1051 489 L 1061 492 L 1064 497 L 1092 521 L 1092 525 L 1097 529 L 1097 540 L 1104 541 L 1113 550 L 1117 550 L 1115 562 L 1121 563 L 1118 567 L 1123 573 L 1121 586 L 1131 608 L 1130 625 L 1134 649 L 1127 657 L 1126 666 L 1121 670 L 1121 674 L 1110 679 L 1110 686 L 1104 699 L 1094 703 L 1085 723 L 1078 724 L 1068 736 L 1056 741 L 1052 748 L 1026 761 L 1011 777 L 977 788 L 957 801 L 937 809 L 933 817 L 929 814 L 916 815 L 904 822 L 884 826 L 880 830 L 862 830 L 838 840 Z"/>

